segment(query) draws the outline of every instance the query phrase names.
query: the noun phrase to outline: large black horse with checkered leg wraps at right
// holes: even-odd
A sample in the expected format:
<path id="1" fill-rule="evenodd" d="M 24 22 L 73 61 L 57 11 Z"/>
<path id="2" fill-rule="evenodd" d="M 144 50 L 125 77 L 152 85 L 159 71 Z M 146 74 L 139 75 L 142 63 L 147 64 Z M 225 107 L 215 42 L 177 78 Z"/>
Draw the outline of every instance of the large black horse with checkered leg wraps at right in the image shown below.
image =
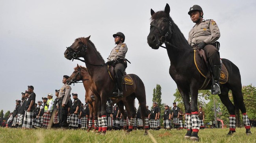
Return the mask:
<path id="1" fill-rule="evenodd" d="M 158 11 L 155 13 L 151 9 L 152 22 L 150 23 L 150 33 L 147 37 L 148 45 L 152 49 L 158 49 L 160 46 L 163 47 L 162 44 L 165 43 L 171 62 L 169 73 L 176 82 L 178 90 L 184 101 L 188 127 L 185 138 L 198 140 L 198 90 L 210 89 L 211 82 L 210 84 L 208 82 L 208 85 L 203 86 L 205 84 L 205 77 L 198 72 L 198 67 L 194 61 L 195 51 L 188 44 L 178 26 L 173 22 L 169 13 L 170 7 L 168 4 L 166 4 L 164 11 Z M 227 59 L 222 59 L 222 62 L 223 66 L 226 67 L 228 79 L 225 83 L 221 84 L 221 94 L 219 94 L 219 97 L 222 103 L 227 107 L 228 112 L 230 113 L 230 121 L 232 121 L 230 122 L 231 128 L 228 134 L 235 132 L 234 120 L 236 120 L 235 115 L 239 115 L 239 109 L 243 114 L 246 133 L 250 134 L 249 119 L 246 114 L 243 94 L 241 91 L 242 85 L 239 69 L 234 65 L 234 63 Z M 228 98 L 229 90 L 232 91 L 234 105 Z M 189 96 L 191 96 L 191 101 Z"/>

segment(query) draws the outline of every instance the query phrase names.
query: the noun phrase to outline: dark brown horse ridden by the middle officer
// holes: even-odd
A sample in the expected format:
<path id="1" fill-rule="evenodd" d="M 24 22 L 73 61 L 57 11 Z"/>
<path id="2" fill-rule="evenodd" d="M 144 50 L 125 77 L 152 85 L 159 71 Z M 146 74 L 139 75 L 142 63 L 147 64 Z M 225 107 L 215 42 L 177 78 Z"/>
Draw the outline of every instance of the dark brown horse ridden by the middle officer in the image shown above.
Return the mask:
<path id="1" fill-rule="evenodd" d="M 91 40 L 89 40 L 89 38 L 90 36 L 87 38 L 77 38 L 70 47 L 67 47 L 67 50 L 64 52 L 64 56 L 68 60 L 79 59 L 80 57 L 84 58 L 82 61 L 85 62 L 89 73 L 90 89 L 93 91 L 100 103 L 98 105 L 98 116 L 101 118 L 98 118 L 98 120 L 102 125 L 102 133 L 105 134 L 107 130 L 106 102 L 115 91 L 116 83 L 112 80 L 113 77 L 109 76 L 108 65 L 105 63 L 100 53 L 96 50 L 95 45 Z M 128 74 L 128 76 L 130 76 L 132 79 L 131 81 L 133 82 L 126 86 L 123 84 L 123 89 L 125 89 L 123 96 L 126 100 L 122 100 L 122 102 L 126 107 L 127 114 L 132 115 L 130 121 L 133 121 L 136 112 L 132 104 L 134 104 L 134 99 L 137 98 L 141 104 L 143 121 L 145 121 L 145 119 L 147 120 L 147 109 L 144 83 L 139 76 L 135 74 Z M 145 123 L 145 133 L 147 133 L 148 121 Z M 130 123 L 129 131 L 132 130 L 132 126 L 133 123 Z"/>

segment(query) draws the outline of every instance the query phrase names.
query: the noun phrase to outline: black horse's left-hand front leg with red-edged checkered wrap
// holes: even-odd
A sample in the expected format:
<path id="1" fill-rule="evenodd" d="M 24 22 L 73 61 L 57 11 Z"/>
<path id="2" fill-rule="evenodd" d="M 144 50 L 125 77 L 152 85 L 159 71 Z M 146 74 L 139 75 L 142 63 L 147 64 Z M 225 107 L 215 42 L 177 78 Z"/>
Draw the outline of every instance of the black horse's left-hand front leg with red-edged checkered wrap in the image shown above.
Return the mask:
<path id="1" fill-rule="evenodd" d="M 189 102 L 189 92 L 182 91 L 180 88 L 178 88 L 180 91 L 180 94 L 182 95 L 182 99 L 184 101 L 184 107 L 185 107 L 185 116 L 186 116 L 186 126 L 187 126 L 187 133 L 184 136 L 185 139 L 189 139 L 192 135 L 192 121 L 191 121 L 191 109 L 190 109 L 190 102 Z"/>

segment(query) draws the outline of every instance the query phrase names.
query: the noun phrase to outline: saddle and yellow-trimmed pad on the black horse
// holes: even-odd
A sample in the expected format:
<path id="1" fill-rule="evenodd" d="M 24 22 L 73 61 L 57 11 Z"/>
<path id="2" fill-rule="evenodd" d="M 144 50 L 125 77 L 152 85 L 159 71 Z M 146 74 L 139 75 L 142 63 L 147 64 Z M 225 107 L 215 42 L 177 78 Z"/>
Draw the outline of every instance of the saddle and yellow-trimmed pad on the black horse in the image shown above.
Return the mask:
<path id="1" fill-rule="evenodd" d="M 200 49 L 200 48 L 193 48 L 193 49 L 194 49 L 195 66 L 197 67 L 198 72 L 205 78 L 204 84 L 202 85 L 202 87 L 200 87 L 200 89 L 204 89 L 211 80 L 211 72 L 209 69 L 210 66 L 207 62 L 207 58 L 206 58 L 206 54 L 205 54 L 204 50 Z M 220 83 L 224 84 L 227 81 L 228 81 L 228 71 L 227 71 L 224 63 L 222 63 Z"/>

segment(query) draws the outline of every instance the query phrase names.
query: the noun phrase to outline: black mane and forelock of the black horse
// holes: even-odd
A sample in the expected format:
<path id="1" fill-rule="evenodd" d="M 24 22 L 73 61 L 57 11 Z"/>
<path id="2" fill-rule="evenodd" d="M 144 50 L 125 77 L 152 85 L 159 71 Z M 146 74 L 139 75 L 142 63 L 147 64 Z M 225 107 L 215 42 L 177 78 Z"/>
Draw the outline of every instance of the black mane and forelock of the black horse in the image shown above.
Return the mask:
<path id="1" fill-rule="evenodd" d="M 187 45 L 189 45 L 187 40 L 186 40 L 186 38 L 185 38 L 185 36 L 184 36 L 184 34 L 180 31 L 179 27 L 173 22 L 173 19 L 171 18 L 170 14 L 165 13 L 165 11 L 158 11 L 158 12 L 156 12 L 156 13 L 154 13 L 152 15 L 150 20 L 155 20 L 155 19 L 163 18 L 163 17 L 166 17 L 166 18 L 168 18 L 171 21 L 174 33 L 180 34 L 181 37 L 183 37 L 184 40 L 186 41 Z"/>

